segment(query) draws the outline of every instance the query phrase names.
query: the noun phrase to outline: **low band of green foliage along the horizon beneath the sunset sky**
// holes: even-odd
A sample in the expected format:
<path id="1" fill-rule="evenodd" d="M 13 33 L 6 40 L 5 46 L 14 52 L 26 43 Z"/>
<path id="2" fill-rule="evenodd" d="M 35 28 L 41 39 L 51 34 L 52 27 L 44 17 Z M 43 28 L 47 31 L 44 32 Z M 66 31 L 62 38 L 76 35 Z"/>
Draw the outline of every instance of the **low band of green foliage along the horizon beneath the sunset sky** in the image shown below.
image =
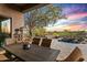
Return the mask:
<path id="1" fill-rule="evenodd" d="M 74 32 L 69 32 L 69 31 L 64 31 L 64 32 L 53 32 L 53 35 L 58 35 L 58 36 L 68 36 L 72 39 L 83 39 L 85 37 L 85 31 L 74 31 Z"/>

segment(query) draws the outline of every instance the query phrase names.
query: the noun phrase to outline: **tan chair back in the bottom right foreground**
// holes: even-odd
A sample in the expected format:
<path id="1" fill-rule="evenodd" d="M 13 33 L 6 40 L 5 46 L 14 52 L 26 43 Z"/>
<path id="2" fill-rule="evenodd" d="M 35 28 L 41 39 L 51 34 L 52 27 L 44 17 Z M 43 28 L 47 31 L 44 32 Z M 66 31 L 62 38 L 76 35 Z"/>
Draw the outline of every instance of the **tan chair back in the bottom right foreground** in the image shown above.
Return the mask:
<path id="1" fill-rule="evenodd" d="M 83 62 L 83 54 L 81 51 L 76 47 L 70 54 L 69 56 L 67 56 L 64 61 L 58 61 L 58 62 Z"/>

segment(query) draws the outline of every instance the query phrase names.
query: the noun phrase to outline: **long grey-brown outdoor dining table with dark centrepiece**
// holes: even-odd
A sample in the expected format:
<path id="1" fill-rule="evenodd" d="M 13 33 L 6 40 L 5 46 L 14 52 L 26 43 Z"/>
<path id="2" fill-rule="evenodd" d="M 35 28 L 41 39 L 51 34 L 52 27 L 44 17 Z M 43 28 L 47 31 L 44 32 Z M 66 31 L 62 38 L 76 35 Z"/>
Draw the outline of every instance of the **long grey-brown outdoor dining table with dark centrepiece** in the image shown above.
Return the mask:
<path id="1" fill-rule="evenodd" d="M 23 44 L 4 45 L 3 48 L 24 62 L 55 62 L 61 52 L 34 44 L 29 50 L 23 50 Z"/>

